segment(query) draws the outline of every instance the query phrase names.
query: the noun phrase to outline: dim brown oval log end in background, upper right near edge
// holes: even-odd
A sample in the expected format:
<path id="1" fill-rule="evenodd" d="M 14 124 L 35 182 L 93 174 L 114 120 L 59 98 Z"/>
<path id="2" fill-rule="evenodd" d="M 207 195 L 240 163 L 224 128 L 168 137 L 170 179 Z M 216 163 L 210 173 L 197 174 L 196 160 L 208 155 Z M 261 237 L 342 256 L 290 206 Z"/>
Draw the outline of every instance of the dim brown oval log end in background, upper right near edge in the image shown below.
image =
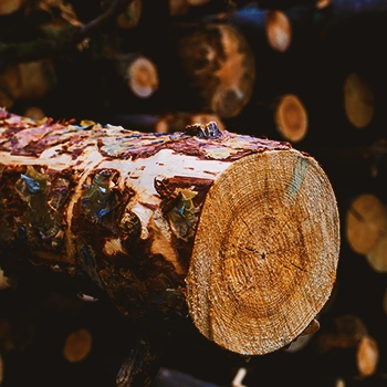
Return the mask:
<path id="1" fill-rule="evenodd" d="M 357 128 L 366 127 L 374 117 L 374 91 L 357 73 L 351 73 L 345 79 L 344 106 L 348 121 Z"/>

